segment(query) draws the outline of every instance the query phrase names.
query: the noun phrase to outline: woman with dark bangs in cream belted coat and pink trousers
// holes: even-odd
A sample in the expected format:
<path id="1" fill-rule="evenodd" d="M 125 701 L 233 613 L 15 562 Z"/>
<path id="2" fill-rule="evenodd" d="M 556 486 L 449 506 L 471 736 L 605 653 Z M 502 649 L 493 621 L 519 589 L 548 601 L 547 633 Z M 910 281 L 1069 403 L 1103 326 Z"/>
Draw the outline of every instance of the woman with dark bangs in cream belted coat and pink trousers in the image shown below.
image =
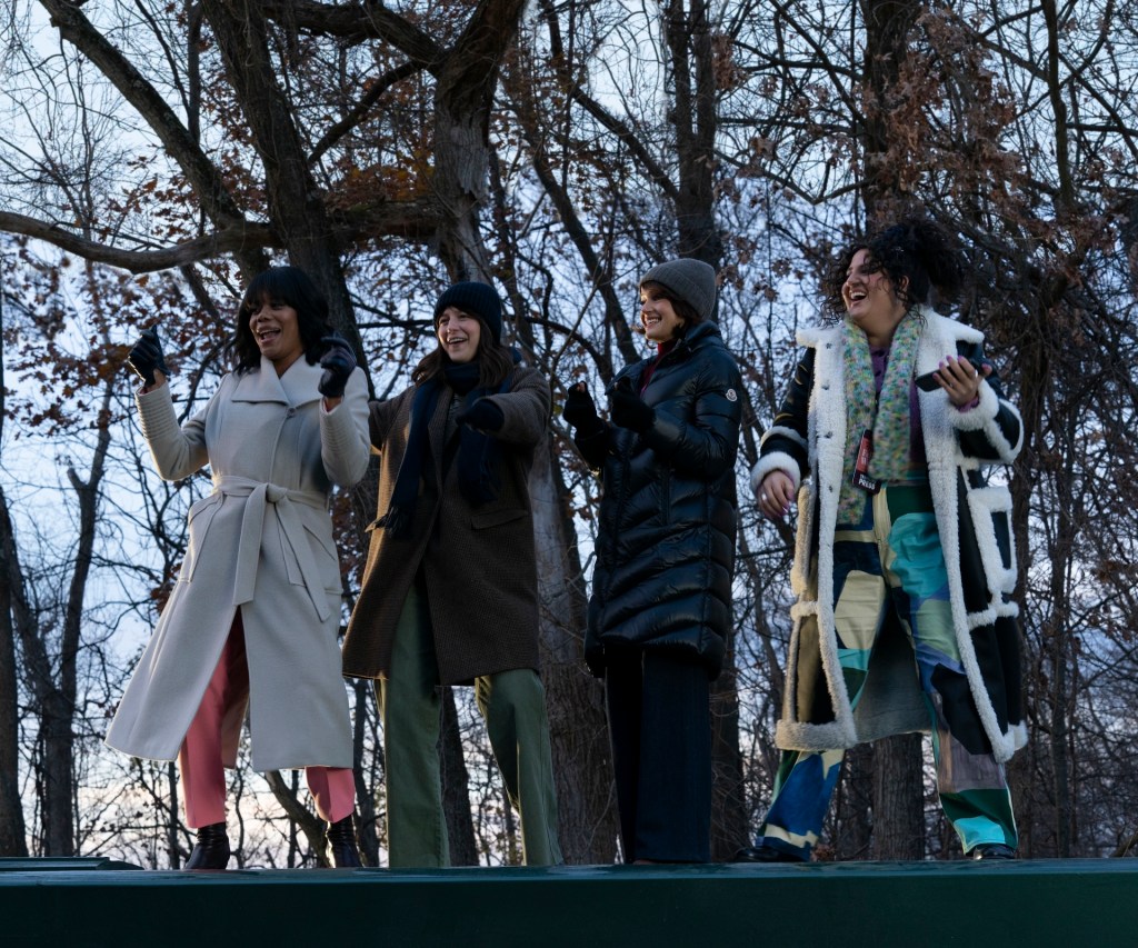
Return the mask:
<path id="1" fill-rule="evenodd" d="M 229 860 L 223 767 L 236 765 L 247 708 L 253 767 L 304 767 L 333 860 L 358 865 L 328 498 L 366 470 L 368 401 L 351 348 L 329 333 L 302 271 L 261 274 L 239 310 L 236 371 L 184 424 L 156 331 L 131 351 L 158 473 L 180 480 L 208 464 L 214 487 L 190 509 L 181 574 L 107 734 L 134 757 L 178 757 L 198 827 L 187 868 Z"/>

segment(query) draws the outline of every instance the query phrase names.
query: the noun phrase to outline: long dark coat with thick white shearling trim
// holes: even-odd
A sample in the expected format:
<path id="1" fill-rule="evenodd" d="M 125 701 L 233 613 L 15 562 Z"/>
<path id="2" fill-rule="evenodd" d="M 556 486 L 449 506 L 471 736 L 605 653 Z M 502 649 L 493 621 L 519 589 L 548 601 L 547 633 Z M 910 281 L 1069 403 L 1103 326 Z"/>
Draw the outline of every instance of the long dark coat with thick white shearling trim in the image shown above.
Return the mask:
<path id="1" fill-rule="evenodd" d="M 916 374 L 934 371 L 950 354 L 974 365 L 983 335 L 921 308 L 925 328 Z M 913 650 L 883 634 L 871 659 L 858 707 L 851 710 L 838 658 L 833 610 L 833 547 L 846 446 L 844 357 L 841 327 L 799 333 L 807 348 L 775 423 L 764 435 L 751 483 L 758 489 L 774 470 L 799 492 L 791 574 L 798 596 L 791 617 L 782 719 L 775 740 L 792 750 L 850 748 L 890 734 L 929 729 Z M 986 479 L 992 464 L 1020 452 L 1022 422 L 992 373 L 980 385 L 980 404 L 960 411 L 946 394 L 920 391 L 929 483 L 948 572 L 953 625 L 966 693 L 945 695 L 954 736 L 972 752 L 1004 761 L 1026 740 L 1021 700 L 1019 609 L 1012 601 L 1016 561 L 1007 487 Z M 818 643 L 803 641 L 803 619 L 817 617 Z M 813 625 L 813 624 L 807 624 Z M 819 667 L 820 665 L 820 667 Z M 822 690 L 826 693 L 823 694 Z M 974 709 L 967 707 L 974 702 Z M 955 702 L 959 707 L 948 707 Z"/>

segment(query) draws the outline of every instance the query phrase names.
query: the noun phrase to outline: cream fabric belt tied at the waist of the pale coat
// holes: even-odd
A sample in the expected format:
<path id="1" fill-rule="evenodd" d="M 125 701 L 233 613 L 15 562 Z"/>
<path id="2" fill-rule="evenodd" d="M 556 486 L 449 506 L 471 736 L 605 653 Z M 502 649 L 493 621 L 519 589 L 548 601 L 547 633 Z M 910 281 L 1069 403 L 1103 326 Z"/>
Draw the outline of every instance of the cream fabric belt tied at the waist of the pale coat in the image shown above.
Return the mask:
<path id="1" fill-rule="evenodd" d="M 245 512 L 241 514 L 241 538 L 237 547 L 237 574 L 233 578 L 233 605 L 253 602 L 253 593 L 257 584 L 257 561 L 261 559 L 261 538 L 264 533 L 265 510 L 271 505 L 277 516 L 277 522 L 292 549 L 300 578 L 308 593 L 308 599 L 316 609 L 316 615 L 323 623 L 331 616 L 328 608 L 328 596 L 320 578 L 316 561 L 312 558 L 312 549 L 304 535 L 304 525 L 295 504 L 328 509 L 328 497 L 318 491 L 289 491 L 275 484 L 250 480 L 245 477 L 226 475 L 214 480 L 214 491 L 228 497 L 247 497 Z"/>

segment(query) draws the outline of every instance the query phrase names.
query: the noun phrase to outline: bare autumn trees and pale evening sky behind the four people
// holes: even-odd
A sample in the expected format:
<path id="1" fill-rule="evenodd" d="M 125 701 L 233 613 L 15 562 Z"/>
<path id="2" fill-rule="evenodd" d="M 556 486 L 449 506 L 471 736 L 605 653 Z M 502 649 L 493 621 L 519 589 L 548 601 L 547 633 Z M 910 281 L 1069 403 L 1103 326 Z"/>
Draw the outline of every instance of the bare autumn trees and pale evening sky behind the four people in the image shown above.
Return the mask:
<path id="1" fill-rule="evenodd" d="M 173 765 L 101 743 L 181 561 L 198 475 L 152 473 L 123 358 L 158 323 L 179 409 L 225 370 L 240 287 L 306 269 L 376 397 L 405 387 L 453 279 L 595 396 L 643 355 L 637 277 L 695 256 L 745 379 L 715 856 L 769 799 L 792 525 L 747 472 L 851 233 L 925 208 L 965 247 L 962 319 L 1025 422 L 1015 498 L 1026 857 L 1138 833 L 1135 537 L 1138 9 L 1132 0 L 2 0 L 0 855 L 176 867 Z M 580 660 L 599 485 L 558 413 L 535 472 L 543 675 L 571 863 L 619 858 L 599 684 Z M 373 484 L 338 497 L 345 604 Z M 346 615 L 346 613 L 345 613 Z M 382 740 L 354 708 L 365 858 Z M 469 694 L 440 747 L 457 864 L 519 859 Z M 927 741 L 848 757 L 819 858 L 953 858 Z M 232 780 L 242 865 L 323 864 L 294 773 Z"/>

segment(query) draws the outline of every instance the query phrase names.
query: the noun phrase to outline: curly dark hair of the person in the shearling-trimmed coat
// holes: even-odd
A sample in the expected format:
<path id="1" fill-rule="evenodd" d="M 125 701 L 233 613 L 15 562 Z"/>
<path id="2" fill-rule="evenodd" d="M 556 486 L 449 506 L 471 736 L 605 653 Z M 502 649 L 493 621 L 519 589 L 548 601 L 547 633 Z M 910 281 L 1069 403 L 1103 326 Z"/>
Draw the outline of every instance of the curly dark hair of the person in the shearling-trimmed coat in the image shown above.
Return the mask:
<path id="1" fill-rule="evenodd" d="M 823 307 L 834 319 L 846 313 L 842 285 L 858 250 L 868 252 L 871 272 L 885 273 L 893 295 L 907 310 L 932 302 L 933 289 L 939 300 L 951 302 L 964 282 L 960 254 L 948 231 L 924 217 L 906 217 L 871 237 L 853 240 L 823 277 Z"/>

